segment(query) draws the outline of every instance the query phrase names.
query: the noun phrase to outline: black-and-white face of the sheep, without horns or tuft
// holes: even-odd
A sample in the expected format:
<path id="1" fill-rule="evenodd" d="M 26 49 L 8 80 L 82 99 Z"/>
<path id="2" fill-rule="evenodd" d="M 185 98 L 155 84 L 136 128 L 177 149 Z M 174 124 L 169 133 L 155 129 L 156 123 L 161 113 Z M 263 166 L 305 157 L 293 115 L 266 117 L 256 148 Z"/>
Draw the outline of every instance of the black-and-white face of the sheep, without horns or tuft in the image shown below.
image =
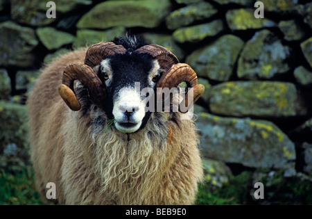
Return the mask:
<path id="1" fill-rule="evenodd" d="M 146 111 L 146 96 L 141 95 L 141 90 L 155 90 L 161 74 L 157 60 L 136 51 L 101 61 L 98 77 L 107 89 L 105 111 L 115 119 L 116 129 L 132 133 L 144 127 L 150 112 Z"/>

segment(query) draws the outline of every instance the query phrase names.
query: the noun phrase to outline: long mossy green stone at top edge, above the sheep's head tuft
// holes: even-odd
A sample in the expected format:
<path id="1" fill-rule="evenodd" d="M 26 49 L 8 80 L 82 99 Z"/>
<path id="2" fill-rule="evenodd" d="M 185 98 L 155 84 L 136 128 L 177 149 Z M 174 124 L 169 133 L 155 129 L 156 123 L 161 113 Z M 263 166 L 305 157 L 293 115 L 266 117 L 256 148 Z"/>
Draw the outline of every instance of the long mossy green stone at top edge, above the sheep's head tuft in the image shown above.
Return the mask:
<path id="1" fill-rule="evenodd" d="M 79 29 L 107 29 L 114 26 L 156 27 L 170 13 L 168 0 L 105 1 L 98 3 L 78 21 Z"/>

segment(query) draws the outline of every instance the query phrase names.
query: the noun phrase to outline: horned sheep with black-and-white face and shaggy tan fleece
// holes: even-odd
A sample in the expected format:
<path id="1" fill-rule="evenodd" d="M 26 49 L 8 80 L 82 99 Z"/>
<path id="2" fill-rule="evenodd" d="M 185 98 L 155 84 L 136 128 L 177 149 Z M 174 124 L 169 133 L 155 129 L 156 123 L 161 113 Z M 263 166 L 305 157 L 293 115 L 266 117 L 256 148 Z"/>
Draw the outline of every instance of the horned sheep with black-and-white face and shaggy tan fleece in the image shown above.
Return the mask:
<path id="1" fill-rule="evenodd" d="M 194 204 L 203 175 L 194 121 L 180 111 L 145 111 L 133 86 L 182 81 L 193 104 L 204 88 L 191 67 L 136 37 L 77 49 L 44 67 L 27 100 L 42 200 L 49 202 L 53 182 L 59 204 Z"/>

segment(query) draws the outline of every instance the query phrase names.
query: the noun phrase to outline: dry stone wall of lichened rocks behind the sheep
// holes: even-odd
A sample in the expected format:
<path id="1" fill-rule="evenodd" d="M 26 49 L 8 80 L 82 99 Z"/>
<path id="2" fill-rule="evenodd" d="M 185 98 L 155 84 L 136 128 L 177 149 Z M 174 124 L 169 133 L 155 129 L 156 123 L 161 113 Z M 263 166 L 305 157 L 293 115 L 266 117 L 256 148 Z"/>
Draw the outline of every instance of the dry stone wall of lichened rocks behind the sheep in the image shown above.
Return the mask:
<path id="1" fill-rule="evenodd" d="M 252 0 L 54 2 L 48 19 L 46 1 L 0 0 L 1 167 L 28 161 L 24 104 L 40 67 L 131 33 L 171 49 L 205 85 L 195 111 L 208 181 L 216 165 L 312 175 L 311 1 L 263 0 L 262 19 Z"/>

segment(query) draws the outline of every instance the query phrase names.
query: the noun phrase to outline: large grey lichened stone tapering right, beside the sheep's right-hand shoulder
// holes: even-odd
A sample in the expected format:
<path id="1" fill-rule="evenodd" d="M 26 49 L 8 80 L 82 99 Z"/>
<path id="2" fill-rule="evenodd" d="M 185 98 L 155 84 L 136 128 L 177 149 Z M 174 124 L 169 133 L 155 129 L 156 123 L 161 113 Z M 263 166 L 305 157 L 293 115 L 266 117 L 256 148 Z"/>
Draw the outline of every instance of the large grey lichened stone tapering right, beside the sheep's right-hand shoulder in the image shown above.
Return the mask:
<path id="1" fill-rule="evenodd" d="M 202 153 L 209 159 L 253 168 L 295 168 L 295 145 L 272 122 L 201 113 L 197 127 Z"/>

